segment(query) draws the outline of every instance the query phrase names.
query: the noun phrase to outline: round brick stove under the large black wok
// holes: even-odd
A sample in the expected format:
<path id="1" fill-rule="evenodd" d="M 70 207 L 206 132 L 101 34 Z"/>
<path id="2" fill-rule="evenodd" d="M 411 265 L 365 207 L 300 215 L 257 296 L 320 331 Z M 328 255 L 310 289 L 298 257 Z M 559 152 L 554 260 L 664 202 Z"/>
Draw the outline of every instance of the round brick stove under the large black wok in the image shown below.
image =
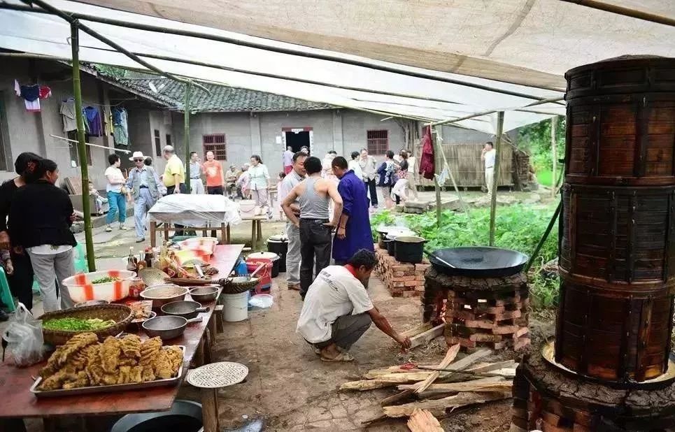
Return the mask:
<path id="1" fill-rule="evenodd" d="M 423 322 L 446 322 L 448 345 L 515 350 L 530 344 L 529 289 L 525 273 L 499 278 L 446 275 L 429 268 L 422 298 Z"/>

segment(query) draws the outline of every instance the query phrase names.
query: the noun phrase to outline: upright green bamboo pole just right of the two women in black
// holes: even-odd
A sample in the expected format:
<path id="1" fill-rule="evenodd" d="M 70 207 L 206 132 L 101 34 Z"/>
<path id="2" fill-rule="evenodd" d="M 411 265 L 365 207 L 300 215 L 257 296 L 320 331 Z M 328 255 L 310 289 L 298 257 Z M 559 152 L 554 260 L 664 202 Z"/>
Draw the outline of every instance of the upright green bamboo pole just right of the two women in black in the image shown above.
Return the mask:
<path id="1" fill-rule="evenodd" d="M 80 88 L 80 38 L 78 21 L 71 22 L 71 48 L 73 50 L 73 97 L 75 98 L 75 119 L 78 124 L 78 156 L 82 175 L 82 212 L 85 217 L 85 243 L 87 243 L 87 266 L 96 271 L 94 257 L 94 238 L 92 236 L 92 212 L 90 209 L 89 169 L 87 168 L 87 149 L 85 147 L 85 118 L 82 114 L 82 89 Z"/>

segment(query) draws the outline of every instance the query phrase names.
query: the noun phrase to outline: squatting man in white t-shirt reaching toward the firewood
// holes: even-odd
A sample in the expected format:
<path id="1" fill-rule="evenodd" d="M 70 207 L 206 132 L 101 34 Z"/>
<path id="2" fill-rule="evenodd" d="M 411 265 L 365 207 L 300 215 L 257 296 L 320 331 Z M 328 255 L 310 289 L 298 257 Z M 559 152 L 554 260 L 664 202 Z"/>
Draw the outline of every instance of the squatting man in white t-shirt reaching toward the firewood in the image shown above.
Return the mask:
<path id="1" fill-rule="evenodd" d="M 348 350 L 371 323 L 402 348 L 410 347 L 410 338 L 395 331 L 368 296 L 366 287 L 375 263 L 374 252 L 359 250 L 346 266 L 324 268 L 307 292 L 297 332 L 323 361 L 352 361 Z"/>

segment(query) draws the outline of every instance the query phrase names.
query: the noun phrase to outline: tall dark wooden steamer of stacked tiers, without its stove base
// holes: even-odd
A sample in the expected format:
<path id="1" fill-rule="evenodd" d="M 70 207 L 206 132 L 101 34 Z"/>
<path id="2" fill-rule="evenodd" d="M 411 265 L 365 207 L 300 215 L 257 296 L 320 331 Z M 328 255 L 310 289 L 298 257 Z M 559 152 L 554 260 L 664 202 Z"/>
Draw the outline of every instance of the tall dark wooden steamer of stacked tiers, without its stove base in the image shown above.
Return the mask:
<path id="1" fill-rule="evenodd" d="M 675 61 L 567 73 L 555 361 L 642 382 L 665 373 L 675 288 Z"/>

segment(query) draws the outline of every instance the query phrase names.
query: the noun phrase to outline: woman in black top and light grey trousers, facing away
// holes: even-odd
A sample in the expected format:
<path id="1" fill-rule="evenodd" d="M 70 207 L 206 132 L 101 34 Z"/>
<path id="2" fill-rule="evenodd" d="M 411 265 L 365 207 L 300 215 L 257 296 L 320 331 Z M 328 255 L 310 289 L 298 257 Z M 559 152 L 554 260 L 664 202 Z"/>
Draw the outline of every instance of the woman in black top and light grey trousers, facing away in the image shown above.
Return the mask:
<path id="1" fill-rule="evenodd" d="M 68 193 L 55 185 L 59 178 L 55 161 L 38 161 L 33 177 L 37 180 L 15 193 L 9 213 L 10 238 L 30 256 L 45 312 L 72 308 L 73 301 L 62 282 L 75 274 L 73 247 L 77 242 L 70 230 L 73 204 Z"/>

